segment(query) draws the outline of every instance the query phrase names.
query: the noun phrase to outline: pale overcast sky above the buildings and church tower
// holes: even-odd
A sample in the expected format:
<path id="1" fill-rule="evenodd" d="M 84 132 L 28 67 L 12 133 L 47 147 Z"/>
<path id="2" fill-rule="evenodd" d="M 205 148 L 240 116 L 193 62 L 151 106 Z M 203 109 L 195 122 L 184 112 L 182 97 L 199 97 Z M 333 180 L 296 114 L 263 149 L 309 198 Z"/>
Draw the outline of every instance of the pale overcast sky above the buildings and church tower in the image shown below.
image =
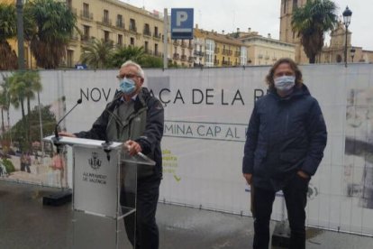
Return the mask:
<path id="1" fill-rule="evenodd" d="M 235 32 L 247 31 L 279 38 L 279 16 L 281 0 L 121 0 L 136 7 L 145 7 L 152 12 L 157 10 L 163 14 L 168 8 L 194 8 L 195 24 L 207 31 Z M 352 45 L 373 51 L 373 0 L 334 0 L 338 7 L 338 15 L 348 5 L 352 11 L 349 31 L 352 32 Z M 328 44 L 329 37 L 326 41 Z"/>

